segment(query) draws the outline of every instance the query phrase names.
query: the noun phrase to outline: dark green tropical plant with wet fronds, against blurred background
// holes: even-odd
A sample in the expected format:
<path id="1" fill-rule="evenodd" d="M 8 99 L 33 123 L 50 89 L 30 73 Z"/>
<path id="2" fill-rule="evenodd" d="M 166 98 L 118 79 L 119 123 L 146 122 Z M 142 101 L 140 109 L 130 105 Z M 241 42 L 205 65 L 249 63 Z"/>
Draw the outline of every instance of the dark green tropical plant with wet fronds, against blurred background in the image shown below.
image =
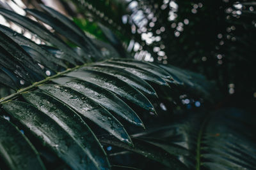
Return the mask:
<path id="1" fill-rule="evenodd" d="M 256 167 L 255 116 L 212 111 L 218 90 L 204 76 L 134 60 L 40 8 L 0 8 L 24 29 L 0 25 L 0 169 Z"/>

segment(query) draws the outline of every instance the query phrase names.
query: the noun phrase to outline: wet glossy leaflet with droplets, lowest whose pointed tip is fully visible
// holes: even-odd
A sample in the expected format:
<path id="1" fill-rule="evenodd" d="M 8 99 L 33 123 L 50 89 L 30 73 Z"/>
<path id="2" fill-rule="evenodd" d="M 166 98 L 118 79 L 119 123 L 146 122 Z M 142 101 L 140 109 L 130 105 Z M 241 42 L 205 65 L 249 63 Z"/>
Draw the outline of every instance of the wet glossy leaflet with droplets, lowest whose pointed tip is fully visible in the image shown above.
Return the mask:
<path id="1" fill-rule="evenodd" d="M 120 141 L 132 145 L 129 134 L 127 134 L 123 125 L 108 110 L 102 108 L 100 104 L 92 99 L 84 96 L 80 92 L 61 85 L 42 85 L 39 89 L 61 100 L 70 106 L 70 108 L 80 113 L 81 116 L 92 120 L 99 127 L 113 134 Z"/>

